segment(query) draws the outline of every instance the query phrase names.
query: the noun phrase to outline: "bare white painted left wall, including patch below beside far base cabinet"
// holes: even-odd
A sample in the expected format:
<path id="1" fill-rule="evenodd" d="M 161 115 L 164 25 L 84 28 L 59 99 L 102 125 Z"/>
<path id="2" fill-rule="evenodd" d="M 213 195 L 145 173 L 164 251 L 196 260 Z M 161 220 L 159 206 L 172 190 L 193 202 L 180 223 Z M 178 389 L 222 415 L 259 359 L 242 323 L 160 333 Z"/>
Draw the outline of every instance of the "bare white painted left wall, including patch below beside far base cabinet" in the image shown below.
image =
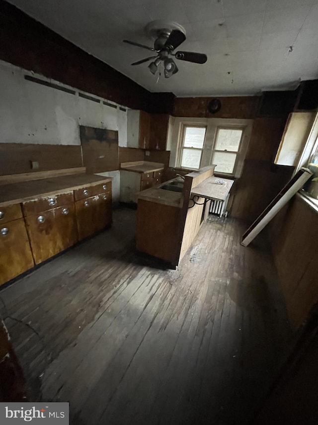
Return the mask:
<path id="1" fill-rule="evenodd" d="M 117 130 L 119 146 L 127 146 L 126 108 L 123 111 L 114 102 L 109 103 L 116 108 L 103 105 L 101 98 L 99 103 L 84 99 L 75 89 L 73 95 L 43 86 L 25 80 L 24 75 L 71 88 L 0 61 L 1 143 L 79 145 L 79 126 L 84 125 Z M 116 201 L 119 199 L 119 172 L 111 174 Z"/>

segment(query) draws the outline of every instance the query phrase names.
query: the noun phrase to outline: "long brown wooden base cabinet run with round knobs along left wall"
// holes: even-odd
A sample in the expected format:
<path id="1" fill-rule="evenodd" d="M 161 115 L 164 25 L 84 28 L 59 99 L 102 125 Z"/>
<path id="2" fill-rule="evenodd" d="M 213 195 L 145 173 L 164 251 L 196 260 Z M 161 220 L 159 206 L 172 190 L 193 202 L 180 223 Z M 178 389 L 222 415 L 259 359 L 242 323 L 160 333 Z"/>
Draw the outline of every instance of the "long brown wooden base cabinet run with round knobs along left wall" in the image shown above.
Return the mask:
<path id="1" fill-rule="evenodd" d="M 0 284 L 109 227 L 111 182 L 0 207 Z"/>

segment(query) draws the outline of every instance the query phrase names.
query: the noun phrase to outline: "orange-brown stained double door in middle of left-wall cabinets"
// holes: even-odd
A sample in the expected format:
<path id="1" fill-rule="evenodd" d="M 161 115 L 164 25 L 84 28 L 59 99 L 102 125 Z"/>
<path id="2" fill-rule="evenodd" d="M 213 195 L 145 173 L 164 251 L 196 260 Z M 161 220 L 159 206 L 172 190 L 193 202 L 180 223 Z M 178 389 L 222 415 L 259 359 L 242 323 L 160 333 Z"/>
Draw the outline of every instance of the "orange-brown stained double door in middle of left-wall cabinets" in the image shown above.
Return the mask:
<path id="1" fill-rule="evenodd" d="M 78 240 L 74 204 L 31 215 L 25 221 L 35 264 L 53 257 Z"/>

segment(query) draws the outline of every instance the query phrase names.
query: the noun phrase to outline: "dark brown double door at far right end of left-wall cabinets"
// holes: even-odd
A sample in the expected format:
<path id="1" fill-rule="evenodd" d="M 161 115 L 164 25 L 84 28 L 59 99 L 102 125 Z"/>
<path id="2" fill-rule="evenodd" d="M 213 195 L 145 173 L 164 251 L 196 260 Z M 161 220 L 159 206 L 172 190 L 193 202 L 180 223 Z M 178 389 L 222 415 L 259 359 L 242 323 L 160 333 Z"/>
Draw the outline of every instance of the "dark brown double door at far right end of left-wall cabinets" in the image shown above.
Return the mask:
<path id="1" fill-rule="evenodd" d="M 110 226 L 111 193 L 102 193 L 75 203 L 79 240 Z"/>

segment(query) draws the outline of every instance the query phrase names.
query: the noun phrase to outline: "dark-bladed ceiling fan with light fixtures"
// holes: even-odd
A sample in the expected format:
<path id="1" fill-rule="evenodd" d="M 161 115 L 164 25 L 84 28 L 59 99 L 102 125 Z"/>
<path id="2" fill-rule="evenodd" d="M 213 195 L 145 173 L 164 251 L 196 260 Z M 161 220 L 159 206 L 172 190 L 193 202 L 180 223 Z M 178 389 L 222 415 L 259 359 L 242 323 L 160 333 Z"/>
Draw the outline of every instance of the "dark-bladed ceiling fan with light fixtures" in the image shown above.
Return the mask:
<path id="1" fill-rule="evenodd" d="M 185 51 L 174 53 L 174 50 L 186 39 L 184 28 L 176 22 L 153 21 L 146 26 L 146 32 L 155 38 L 154 47 L 145 46 L 144 44 L 135 43 L 130 40 L 123 40 L 123 42 L 157 53 L 156 56 L 150 56 L 132 63 L 132 65 L 140 65 L 141 63 L 155 59 L 148 65 L 148 68 L 154 75 L 159 70 L 161 64 L 163 64 L 165 78 L 169 78 L 178 72 L 178 67 L 170 56 L 174 56 L 175 59 L 201 64 L 205 63 L 208 59 L 207 55 L 203 53 Z"/>

